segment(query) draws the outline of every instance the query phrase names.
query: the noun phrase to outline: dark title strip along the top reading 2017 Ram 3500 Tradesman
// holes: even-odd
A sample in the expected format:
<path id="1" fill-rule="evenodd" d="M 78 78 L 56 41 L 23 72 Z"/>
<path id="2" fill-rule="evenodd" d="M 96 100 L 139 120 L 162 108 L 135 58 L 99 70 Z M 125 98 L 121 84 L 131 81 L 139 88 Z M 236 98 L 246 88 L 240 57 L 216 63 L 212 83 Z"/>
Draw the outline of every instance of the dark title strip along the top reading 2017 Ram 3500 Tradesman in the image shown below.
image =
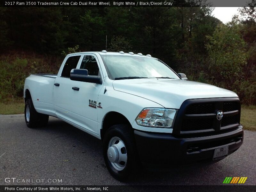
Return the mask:
<path id="1" fill-rule="evenodd" d="M 1 0 L 1 7 L 244 7 L 252 0 Z"/>

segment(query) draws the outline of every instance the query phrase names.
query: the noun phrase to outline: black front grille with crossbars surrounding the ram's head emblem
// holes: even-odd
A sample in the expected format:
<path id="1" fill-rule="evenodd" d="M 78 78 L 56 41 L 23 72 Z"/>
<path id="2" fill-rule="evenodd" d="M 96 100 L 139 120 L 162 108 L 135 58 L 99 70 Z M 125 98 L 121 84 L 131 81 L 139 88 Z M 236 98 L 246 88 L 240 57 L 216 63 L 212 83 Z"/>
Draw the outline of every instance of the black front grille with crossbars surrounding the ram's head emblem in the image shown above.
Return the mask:
<path id="1" fill-rule="evenodd" d="M 235 128 L 240 123 L 240 100 L 238 98 L 211 98 L 186 100 L 176 116 L 174 134 L 219 132 Z M 221 120 L 217 111 L 223 112 Z"/>

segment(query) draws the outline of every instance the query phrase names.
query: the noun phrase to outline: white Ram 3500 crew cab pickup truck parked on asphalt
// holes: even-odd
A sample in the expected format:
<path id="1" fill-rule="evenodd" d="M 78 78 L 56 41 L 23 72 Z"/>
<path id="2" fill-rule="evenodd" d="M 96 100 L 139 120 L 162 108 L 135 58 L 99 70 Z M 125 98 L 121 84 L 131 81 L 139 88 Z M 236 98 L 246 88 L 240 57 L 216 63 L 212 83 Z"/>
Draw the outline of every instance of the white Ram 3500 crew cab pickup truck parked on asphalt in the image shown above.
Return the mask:
<path id="1" fill-rule="evenodd" d="M 103 140 L 108 171 L 217 162 L 243 143 L 236 93 L 188 81 L 159 59 L 132 52 L 68 54 L 59 73 L 24 85 L 28 127 L 57 117 Z"/>

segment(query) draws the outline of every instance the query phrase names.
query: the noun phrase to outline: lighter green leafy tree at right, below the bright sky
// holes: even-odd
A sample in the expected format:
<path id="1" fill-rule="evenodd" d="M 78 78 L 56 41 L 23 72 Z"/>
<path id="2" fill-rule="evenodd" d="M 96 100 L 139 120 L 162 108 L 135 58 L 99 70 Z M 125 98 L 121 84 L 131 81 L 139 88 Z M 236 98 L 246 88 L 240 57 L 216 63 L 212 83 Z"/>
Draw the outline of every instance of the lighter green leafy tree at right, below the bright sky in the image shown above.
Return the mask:
<path id="1" fill-rule="evenodd" d="M 244 77 L 243 68 L 247 64 L 246 43 L 240 34 L 240 26 L 230 22 L 220 24 L 208 36 L 206 45 L 209 52 L 209 77 L 214 84 L 233 90 L 236 80 Z"/>

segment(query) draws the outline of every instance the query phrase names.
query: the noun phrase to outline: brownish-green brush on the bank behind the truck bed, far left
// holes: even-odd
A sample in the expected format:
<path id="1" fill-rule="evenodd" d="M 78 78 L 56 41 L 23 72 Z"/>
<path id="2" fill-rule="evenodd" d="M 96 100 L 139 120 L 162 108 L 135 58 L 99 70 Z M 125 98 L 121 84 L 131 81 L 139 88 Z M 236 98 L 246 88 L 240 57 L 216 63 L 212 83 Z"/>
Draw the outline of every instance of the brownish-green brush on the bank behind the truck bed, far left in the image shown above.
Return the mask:
<path id="1" fill-rule="evenodd" d="M 20 54 L 0 57 L 0 101 L 23 97 L 25 78 L 33 73 L 56 74 L 61 58 Z"/>

